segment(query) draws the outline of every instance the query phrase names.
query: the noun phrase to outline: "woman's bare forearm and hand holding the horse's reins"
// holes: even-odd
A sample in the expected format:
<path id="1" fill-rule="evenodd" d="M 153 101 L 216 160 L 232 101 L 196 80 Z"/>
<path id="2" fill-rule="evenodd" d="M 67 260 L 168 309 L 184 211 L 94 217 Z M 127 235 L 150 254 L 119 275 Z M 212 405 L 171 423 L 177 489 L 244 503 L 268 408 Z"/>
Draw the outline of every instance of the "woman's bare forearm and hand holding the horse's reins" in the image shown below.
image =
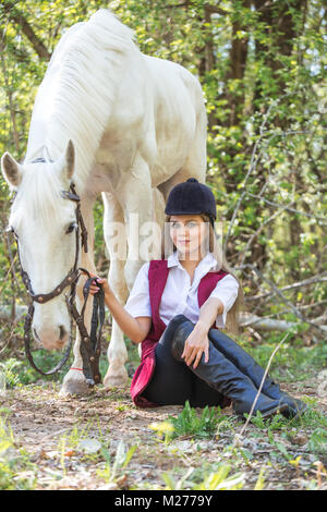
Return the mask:
<path id="1" fill-rule="evenodd" d="M 92 275 L 92 277 L 97 277 Z M 102 285 L 102 290 L 105 293 L 105 303 L 108 306 L 111 315 L 113 316 L 114 320 L 121 328 L 121 330 L 134 342 L 141 343 L 147 336 L 150 325 L 152 318 L 150 317 L 137 317 L 134 318 L 130 313 L 128 313 L 121 303 L 116 297 L 114 293 L 112 292 L 111 288 L 108 284 L 106 279 L 100 279 L 97 277 L 97 282 Z M 89 288 L 90 294 L 98 292 L 98 287 L 96 284 L 92 284 Z"/>

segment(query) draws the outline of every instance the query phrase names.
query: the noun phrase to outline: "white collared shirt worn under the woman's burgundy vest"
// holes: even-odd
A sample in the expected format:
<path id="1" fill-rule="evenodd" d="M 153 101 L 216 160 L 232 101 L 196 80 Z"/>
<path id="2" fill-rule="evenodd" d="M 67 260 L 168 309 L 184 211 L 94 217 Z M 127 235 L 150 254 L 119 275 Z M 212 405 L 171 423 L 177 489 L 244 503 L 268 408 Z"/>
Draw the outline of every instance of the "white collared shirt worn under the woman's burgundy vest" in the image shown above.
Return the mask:
<path id="1" fill-rule="evenodd" d="M 168 325 L 172 317 L 183 314 L 195 324 L 198 320 L 199 314 L 197 302 L 199 281 L 206 273 L 215 269 L 217 260 L 213 253 L 208 253 L 196 266 L 192 284 L 190 275 L 178 259 L 177 252 L 168 257 L 167 264 L 170 270 L 159 306 L 160 318 L 164 324 Z M 141 267 L 124 306 L 134 318 L 152 316 L 148 269 L 149 263 L 147 261 Z M 216 327 L 225 328 L 227 313 L 232 307 L 238 296 L 238 291 L 239 283 L 237 279 L 228 275 L 218 281 L 216 288 L 210 293 L 210 297 L 219 298 L 223 304 L 223 313 L 217 316 Z"/>

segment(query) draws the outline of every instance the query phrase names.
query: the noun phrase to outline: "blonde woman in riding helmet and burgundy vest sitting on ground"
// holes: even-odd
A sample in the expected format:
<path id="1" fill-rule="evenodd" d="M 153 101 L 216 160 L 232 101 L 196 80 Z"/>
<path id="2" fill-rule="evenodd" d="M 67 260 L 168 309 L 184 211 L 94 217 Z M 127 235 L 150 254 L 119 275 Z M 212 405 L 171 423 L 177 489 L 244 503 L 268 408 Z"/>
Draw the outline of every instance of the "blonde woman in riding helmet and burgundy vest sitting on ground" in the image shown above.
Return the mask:
<path id="1" fill-rule="evenodd" d="M 120 328 L 142 344 L 132 399 L 140 407 L 232 403 L 243 416 L 251 411 L 264 369 L 219 330 L 227 320 L 235 329 L 242 290 L 218 247 L 214 194 L 191 178 L 172 188 L 165 212 L 173 252 L 142 266 L 125 306 L 107 280 L 97 278 Z M 90 293 L 97 291 L 93 284 Z M 294 417 L 305 409 L 267 376 L 254 412 Z"/>

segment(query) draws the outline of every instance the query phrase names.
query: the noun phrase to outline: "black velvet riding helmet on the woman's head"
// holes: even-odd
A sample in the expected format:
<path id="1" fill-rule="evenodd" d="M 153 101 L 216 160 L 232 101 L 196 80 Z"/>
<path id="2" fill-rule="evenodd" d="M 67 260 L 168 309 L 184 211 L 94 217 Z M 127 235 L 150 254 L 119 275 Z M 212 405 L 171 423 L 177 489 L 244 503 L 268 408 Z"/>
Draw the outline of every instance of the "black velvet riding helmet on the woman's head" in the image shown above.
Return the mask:
<path id="1" fill-rule="evenodd" d="M 214 225 L 217 217 L 215 196 L 207 185 L 199 183 L 195 178 L 189 178 L 170 191 L 165 214 L 206 214 Z"/>

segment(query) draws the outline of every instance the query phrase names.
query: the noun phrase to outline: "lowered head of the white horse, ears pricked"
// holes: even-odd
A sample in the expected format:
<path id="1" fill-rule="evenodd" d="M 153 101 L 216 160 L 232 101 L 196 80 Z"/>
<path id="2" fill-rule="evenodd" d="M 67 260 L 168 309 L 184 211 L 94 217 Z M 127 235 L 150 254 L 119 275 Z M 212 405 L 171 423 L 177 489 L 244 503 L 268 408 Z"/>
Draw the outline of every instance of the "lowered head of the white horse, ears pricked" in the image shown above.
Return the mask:
<path id="1" fill-rule="evenodd" d="M 76 205 L 62 196 L 74 171 L 73 144 L 55 162 L 19 163 L 5 153 L 1 168 L 16 191 L 9 224 L 17 237 L 22 267 L 35 294 L 50 293 L 70 272 L 76 254 Z M 69 340 L 68 292 L 66 288 L 45 304 L 35 303 L 33 333 L 46 349 L 62 348 Z"/>

